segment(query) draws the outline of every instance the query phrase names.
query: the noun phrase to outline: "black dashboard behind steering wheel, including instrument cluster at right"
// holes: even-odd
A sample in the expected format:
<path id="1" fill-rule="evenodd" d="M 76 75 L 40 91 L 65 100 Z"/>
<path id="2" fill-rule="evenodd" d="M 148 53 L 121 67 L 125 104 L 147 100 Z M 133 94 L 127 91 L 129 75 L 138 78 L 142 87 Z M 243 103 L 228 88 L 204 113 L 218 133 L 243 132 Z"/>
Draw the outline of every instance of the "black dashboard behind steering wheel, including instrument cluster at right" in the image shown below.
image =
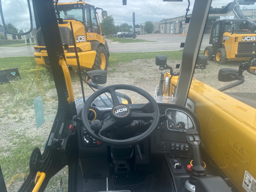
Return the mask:
<path id="1" fill-rule="evenodd" d="M 157 153 L 169 153 L 176 155 L 191 154 L 191 150 L 186 142 L 186 133 L 188 129 L 196 129 L 200 133 L 200 126 L 195 114 L 189 111 L 188 108 L 177 106 L 174 104 L 157 103 L 160 111 L 160 116 L 166 114 L 168 119 L 159 122 L 156 131 L 151 136 L 151 142 L 154 145 Z M 152 113 L 151 105 L 148 104 L 128 104 L 131 106 L 132 112 Z M 88 113 L 88 119 L 98 119 L 101 121 L 108 120 L 111 108 L 91 107 Z M 80 146 L 85 148 L 101 148 L 102 143 L 96 141 L 84 126 L 80 125 Z M 151 144 L 151 146 L 152 146 Z M 93 149 L 94 148 L 94 149 Z M 152 150 L 152 148 L 151 148 Z"/>

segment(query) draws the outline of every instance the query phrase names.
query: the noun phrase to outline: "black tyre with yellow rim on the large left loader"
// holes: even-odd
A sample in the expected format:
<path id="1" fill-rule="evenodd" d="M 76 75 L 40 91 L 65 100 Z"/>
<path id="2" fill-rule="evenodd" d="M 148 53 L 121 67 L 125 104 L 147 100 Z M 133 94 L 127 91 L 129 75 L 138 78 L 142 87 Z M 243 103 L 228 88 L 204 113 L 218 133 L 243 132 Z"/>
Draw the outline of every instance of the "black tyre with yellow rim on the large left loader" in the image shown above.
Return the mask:
<path id="1" fill-rule="evenodd" d="M 96 57 L 94 60 L 94 64 L 92 66 L 92 70 L 105 70 L 108 68 L 108 56 L 105 47 L 99 45 L 96 52 Z"/>

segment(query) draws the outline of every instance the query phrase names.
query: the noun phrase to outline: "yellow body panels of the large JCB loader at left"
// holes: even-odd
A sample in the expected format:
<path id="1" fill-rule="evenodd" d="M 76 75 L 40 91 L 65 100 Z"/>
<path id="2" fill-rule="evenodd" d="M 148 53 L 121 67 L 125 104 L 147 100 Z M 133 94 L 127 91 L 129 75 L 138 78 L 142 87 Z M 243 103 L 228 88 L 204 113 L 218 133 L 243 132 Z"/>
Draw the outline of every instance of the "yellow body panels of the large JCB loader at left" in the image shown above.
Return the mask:
<path id="1" fill-rule="evenodd" d="M 83 4 L 83 5 L 85 5 L 86 3 L 81 2 L 81 1 L 73 2 L 73 3 L 58 3 L 58 5 L 62 5 L 62 4 Z M 64 24 L 58 24 L 58 25 L 59 25 L 59 27 L 66 27 L 71 30 L 70 23 L 69 23 L 70 21 L 72 22 L 74 36 L 76 38 L 75 43 L 76 43 L 76 47 L 78 49 L 78 57 L 79 57 L 80 66 L 82 68 L 92 68 L 92 66 L 94 64 L 95 56 L 96 56 L 96 51 L 92 50 L 91 41 L 94 41 L 94 42 L 97 41 L 97 42 L 100 42 L 103 45 L 105 45 L 105 39 L 97 33 L 93 33 L 93 32 L 85 33 L 85 27 L 84 27 L 83 23 L 80 21 L 77 21 L 77 20 L 63 20 Z M 100 21 L 98 21 L 98 22 L 100 22 Z M 81 40 L 81 41 L 79 41 L 79 40 Z M 47 51 L 45 50 L 45 46 L 35 45 L 34 47 L 39 48 L 39 49 L 40 48 L 44 49 L 44 50 L 40 49 L 40 51 L 35 51 L 34 57 L 35 57 L 36 64 L 39 66 L 45 67 L 45 68 L 50 68 L 50 65 L 47 65 L 46 58 L 45 58 L 45 57 L 48 57 Z M 76 53 L 75 53 L 75 51 L 72 51 L 72 48 L 74 48 L 74 45 L 73 46 L 69 45 L 68 47 L 71 52 L 64 50 L 67 65 L 77 68 Z M 63 46 L 63 49 L 64 49 L 64 46 Z"/>

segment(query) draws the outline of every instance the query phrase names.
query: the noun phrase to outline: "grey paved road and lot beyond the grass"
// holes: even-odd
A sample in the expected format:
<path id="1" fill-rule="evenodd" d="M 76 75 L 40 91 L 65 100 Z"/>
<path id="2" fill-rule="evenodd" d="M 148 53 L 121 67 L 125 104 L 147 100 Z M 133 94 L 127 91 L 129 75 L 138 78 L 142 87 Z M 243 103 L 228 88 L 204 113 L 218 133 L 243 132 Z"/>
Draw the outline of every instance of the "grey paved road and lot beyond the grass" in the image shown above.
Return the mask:
<path id="1" fill-rule="evenodd" d="M 119 52 L 147 52 L 147 51 L 172 51 L 180 50 L 180 43 L 185 42 L 187 36 L 180 34 L 149 34 L 138 35 L 137 39 L 145 39 L 149 41 L 157 41 L 151 43 L 116 43 L 108 41 L 110 53 Z M 209 44 L 209 35 L 203 37 L 201 50 L 204 50 Z M 118 38 L 118 37 L 116 37 Z M 136 41 L 136 40 L 135 40 Z M 0 57 L 17 57 L 17 56 L 33 56 L 34 47 L 0 47 Z"/>

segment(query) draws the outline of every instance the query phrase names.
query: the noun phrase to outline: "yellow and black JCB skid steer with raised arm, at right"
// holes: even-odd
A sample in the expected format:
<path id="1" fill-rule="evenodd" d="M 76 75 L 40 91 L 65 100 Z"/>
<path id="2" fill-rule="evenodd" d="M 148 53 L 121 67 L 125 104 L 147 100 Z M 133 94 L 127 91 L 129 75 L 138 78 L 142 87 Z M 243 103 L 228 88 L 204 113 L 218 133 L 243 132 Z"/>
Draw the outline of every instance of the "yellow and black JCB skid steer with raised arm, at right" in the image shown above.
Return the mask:
<path id="1" fill-rule="evenodd" d="M 253 1 L 255 3 L 255 1 Z M 222 8 L 211 8 L 210 14 L 235 14 L 235 19 L 218 20 L 213 23 L 209 36 L 209 44 L 204 49 L 208 60 L 224 64 L 227 61 L 252 61 L 256 57 L 256 24 L 244 16 L 239 4 L 246 2 L 233 1 Z M 232 8 L 232 9 L 231 9 Z"/>

